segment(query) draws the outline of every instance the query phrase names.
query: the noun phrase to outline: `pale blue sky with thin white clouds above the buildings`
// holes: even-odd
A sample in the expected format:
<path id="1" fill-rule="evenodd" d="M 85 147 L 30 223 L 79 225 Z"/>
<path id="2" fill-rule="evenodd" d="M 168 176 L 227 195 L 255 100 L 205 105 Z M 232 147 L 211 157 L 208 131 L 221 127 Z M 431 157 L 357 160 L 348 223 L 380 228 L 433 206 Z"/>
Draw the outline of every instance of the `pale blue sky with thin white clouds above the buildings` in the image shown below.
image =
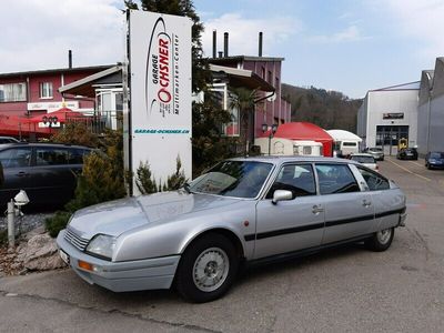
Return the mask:
<path id="1" fill-rule="evenodd" d="M 444 0 L 194 0 L 212 56 L 285 58 L 281 82 L 363 98 L 421 79 L 444 56 Z M 123 0 L 0 0 L 0 73 L 120 62 Z"/>

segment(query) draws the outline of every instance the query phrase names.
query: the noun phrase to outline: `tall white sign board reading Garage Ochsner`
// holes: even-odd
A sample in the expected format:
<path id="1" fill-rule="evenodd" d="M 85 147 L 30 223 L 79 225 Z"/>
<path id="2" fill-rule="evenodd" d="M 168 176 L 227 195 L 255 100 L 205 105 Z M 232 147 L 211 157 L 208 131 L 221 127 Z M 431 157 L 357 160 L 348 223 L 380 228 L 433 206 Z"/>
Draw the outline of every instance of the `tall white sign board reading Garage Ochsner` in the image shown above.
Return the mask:
<path id="1" fill-rule="evenodd" d="M 175 172 L 191 180 L 191 26 L 185 17 L 129 13 L 129 159 L 148 162 L 155 182 Z M 134 182 L 133 182 L 134 183 Z M 133 185 L 133 194 L 139 194 Z"/>

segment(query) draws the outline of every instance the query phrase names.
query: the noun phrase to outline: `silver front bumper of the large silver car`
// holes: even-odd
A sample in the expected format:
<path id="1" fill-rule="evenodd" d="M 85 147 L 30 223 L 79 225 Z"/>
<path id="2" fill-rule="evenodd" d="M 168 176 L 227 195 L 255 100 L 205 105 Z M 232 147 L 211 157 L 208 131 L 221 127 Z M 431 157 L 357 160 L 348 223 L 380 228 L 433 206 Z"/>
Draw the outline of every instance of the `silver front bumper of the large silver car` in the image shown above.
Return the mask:
<path id="1" fill-rule="evenodd" d="M 58 238 L 57 244 L 69 256 L 70 268 L 90 284 L 98 284 L 113 292 L 138 290 L 169 289 L 174 280 L 180 255 L 111 262 L 89 255 L 64 239 L 64 230 Z M 79 261 L 91 264 L 94 270 L 84 270 Z"/>

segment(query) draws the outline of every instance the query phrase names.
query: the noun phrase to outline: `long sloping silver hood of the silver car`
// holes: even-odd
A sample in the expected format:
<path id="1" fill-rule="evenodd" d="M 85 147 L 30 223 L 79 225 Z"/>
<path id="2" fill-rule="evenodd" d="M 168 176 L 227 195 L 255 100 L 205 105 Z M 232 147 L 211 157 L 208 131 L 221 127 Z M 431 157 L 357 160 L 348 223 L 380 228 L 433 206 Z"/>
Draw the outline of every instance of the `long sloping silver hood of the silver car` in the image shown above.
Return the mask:
<path id="1" fill-rule="evenodd" d="M 143 224 L 165 223 L 180 215 L 216 209 L 238 201 L 233 198 L 182 191 L 125 198 L 77 211 L 69 229 L 83 239 L 91 239 L 98 233 L 118 236 Z"/>

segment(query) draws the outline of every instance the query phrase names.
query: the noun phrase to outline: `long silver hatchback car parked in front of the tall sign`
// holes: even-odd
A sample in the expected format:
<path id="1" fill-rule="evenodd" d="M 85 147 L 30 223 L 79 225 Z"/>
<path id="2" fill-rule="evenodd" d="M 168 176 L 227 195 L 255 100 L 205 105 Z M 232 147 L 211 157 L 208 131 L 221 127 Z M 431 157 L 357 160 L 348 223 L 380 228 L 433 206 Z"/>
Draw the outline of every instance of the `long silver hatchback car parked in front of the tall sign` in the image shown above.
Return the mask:
<path id="1" fill-rule="evenodd" d="M 114 292 L 223 295 L 241 263 L 290 259 L 344 242 L 374 251 L 405 223 L 405 195 L 354 161 L 272 157 L 223 161 L 176 192 L 82 209 L 57 239 L 61 258 Z"/>

